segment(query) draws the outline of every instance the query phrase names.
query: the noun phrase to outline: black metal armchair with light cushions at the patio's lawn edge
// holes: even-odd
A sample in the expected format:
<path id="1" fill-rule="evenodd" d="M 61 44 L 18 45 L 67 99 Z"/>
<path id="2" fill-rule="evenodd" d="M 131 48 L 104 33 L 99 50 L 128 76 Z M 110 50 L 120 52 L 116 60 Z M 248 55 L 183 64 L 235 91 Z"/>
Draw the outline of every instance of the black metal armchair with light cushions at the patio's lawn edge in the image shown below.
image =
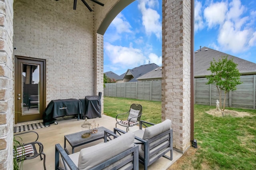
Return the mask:
<path id="1" fill-rule="evenodd" d="M 127 115 L 124 121 L 118 120 L 118 117 L 120 117 L 121 115 Z M 128 132 L 129 127 L 133 127 L 139 124 L 141 115 L 142 115 L 142 106 L 139 104 L 132 104 L 127 113 L 121 113 L 116 115 L 116 125 L 121 125 L 123 127 L 126 127 L 126 132 Z"/>

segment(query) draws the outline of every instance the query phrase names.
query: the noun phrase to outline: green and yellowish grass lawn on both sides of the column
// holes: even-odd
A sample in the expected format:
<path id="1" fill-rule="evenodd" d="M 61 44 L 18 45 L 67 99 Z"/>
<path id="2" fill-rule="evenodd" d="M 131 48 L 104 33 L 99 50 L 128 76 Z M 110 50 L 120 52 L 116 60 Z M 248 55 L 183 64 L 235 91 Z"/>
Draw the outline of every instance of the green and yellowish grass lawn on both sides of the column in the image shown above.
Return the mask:
<path id="1" fill-rule="evenodd" d="M 142 120 L 160 123 L 161 102 L 104 97 L 104 113 L 116 117 L 132 103 L 142 105 Z M 206 113 L 214 106 L 194 106 L 194 138 L 198 150 L 184 169 L 254 170 L 256 168 L 256 116 L 214 117 Z M 226 108 L 256 115 L 256 110 Z M 192 166 L 192 167 L 191 167 Z"/>

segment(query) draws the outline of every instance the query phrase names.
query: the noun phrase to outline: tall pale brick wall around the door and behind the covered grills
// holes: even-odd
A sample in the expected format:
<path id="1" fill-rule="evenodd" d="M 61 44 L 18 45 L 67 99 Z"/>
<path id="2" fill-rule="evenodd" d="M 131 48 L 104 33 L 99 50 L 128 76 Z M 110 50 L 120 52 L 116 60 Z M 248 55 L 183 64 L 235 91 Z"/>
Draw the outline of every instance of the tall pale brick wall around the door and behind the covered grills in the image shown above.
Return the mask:
<path id="1" fill-rule="evenodd" d="M 96 95 L 94 12 L 73 2 L 14 1 L 14 55 L 46 59 L 46 104 Z"/>

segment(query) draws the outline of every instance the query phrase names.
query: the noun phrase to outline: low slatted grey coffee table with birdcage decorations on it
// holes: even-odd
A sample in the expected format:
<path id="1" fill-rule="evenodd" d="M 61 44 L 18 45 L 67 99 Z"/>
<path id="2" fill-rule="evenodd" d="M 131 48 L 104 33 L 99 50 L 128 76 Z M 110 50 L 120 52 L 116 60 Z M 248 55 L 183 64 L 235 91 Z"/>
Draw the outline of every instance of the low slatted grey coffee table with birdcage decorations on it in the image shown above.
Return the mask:
<path id="1" fill-rule="evenodd" d="M 87 144 L 99 139 L 103 139 L 104 138 L 104 131 L 113 133 L 111 130 L 108 130 L 105 127 L 99 127 L 98 128 L 98 132 L 97 133 L 92 133 L 90 135 L 90 137 L 88 138 L 82 138 L 82 134 L 85 131 L 81 131 L 81 132 L 76 132 L 76 133 L 72 133 L 72 134 L 68 134 L 64 136 L 64 149 L 66 150 L 67 154 L 69 154 L 67 148 L 66 148 L 66 141 L 68 141 L 68 143 L 70 144 L 70 146 L 72 147 L 72 154 L 74 153 L 74 148 L 77 146 L 81 146 L 83 144 Z"/>

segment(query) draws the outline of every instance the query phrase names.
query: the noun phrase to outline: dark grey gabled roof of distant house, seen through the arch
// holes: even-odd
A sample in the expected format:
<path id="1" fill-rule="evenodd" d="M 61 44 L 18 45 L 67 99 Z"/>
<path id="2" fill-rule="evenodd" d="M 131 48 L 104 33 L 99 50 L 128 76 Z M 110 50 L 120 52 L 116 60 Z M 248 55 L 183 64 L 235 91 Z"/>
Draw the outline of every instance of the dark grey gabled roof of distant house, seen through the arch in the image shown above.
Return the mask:
<path id="1" fill-rule="evenodd" d="M 139 67 L 134 67 L 133 69 L 128 69 L 122 79 L 130 79 L 129 82 L 138 81 L 136 80 L 138 77 L 156 69 L 157 67 L 159 67 L 159 65 L 151 63 L 146 65 L 140 65 Z"/>

